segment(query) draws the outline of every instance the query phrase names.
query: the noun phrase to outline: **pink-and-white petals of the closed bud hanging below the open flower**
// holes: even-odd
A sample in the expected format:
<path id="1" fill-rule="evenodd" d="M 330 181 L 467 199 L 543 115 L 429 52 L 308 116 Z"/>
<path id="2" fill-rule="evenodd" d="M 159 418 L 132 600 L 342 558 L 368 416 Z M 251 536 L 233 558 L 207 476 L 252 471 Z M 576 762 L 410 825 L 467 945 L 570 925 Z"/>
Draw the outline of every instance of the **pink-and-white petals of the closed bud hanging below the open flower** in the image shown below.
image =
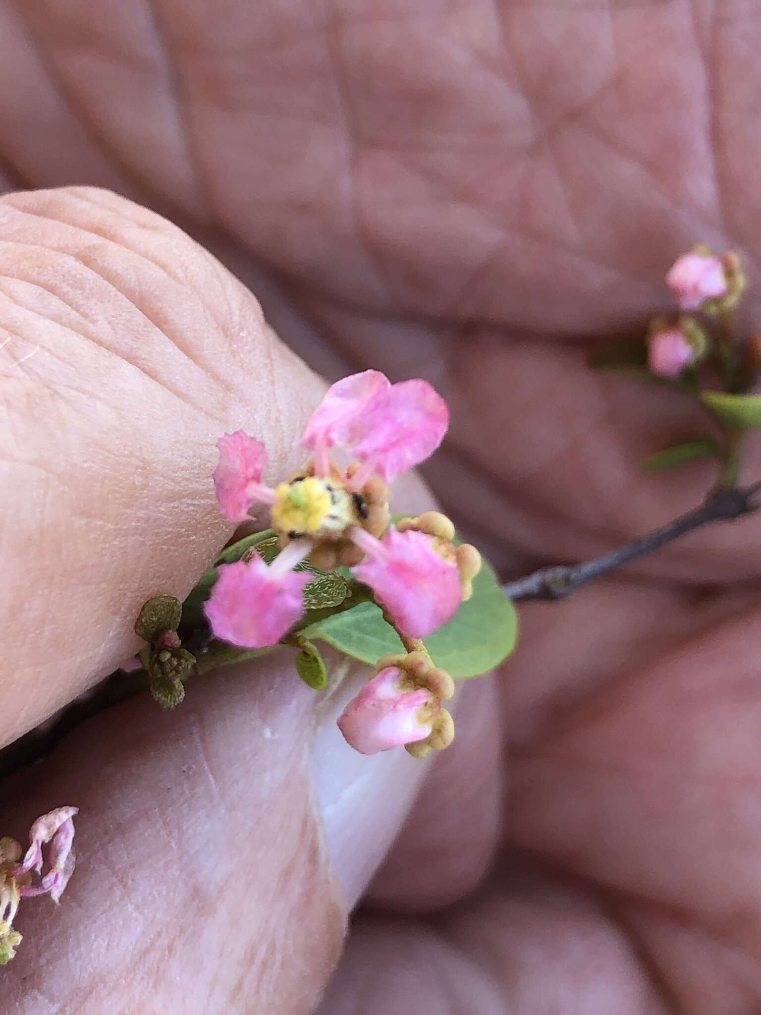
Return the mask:
<path id="1" fill-rule="evenodd" d="M 430 736 L 441 705 L 430 691 L 403 690 L 395 666 L 380 670 L 347 704 L 338 727 L 360 754 L 376 754 Z"/>

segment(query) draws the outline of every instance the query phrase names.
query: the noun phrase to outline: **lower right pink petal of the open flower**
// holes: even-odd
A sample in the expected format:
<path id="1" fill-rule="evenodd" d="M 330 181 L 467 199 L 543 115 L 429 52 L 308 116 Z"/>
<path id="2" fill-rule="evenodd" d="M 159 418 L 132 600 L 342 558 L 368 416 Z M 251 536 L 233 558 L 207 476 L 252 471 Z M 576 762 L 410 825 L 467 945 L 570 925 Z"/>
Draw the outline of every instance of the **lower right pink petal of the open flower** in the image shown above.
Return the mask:
<path id="1" fill-rule="evenodd" d="M 426 637 L 455 616 L 463 598 L 457 564 L 434 549 L 431 536 L 391 529 L 385 553 L 352 568 L 408 637 Z"/>

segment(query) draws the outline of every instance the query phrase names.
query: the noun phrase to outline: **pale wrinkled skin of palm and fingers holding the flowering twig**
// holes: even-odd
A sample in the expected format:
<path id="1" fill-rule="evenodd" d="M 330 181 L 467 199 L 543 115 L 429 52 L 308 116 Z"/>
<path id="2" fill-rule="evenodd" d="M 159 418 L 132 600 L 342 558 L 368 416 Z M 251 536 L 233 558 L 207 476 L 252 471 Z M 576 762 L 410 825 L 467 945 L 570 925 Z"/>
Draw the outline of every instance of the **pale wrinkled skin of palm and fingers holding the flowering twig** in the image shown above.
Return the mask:
<path id="1" fill-rule="evenodd" d="M 746 4 L 152 7 L 0 13 L 3 743 L 229 537 L 219 433 L 263 437 L 274 480 L 323 390 L 141 205 L 316 370 L 434 383 L 454 423 L 427 479 L 505 577 L 701 499 L 708 467 L 638 471 L 698 417 L 591 376 L 577 340 L 660 310 L 695 240 L 758 279 Z M 138 203 L 10 193 L 72 183 Z M 97 717 L 5 789 L 0 834 L 80 808 L 61 907 L 21 910 L 8 1010 L 752 1015 L 760 528 L 527 605 L 433 766 L 347 760 L 337 699 L 286 657 L 168 717 Z"/>

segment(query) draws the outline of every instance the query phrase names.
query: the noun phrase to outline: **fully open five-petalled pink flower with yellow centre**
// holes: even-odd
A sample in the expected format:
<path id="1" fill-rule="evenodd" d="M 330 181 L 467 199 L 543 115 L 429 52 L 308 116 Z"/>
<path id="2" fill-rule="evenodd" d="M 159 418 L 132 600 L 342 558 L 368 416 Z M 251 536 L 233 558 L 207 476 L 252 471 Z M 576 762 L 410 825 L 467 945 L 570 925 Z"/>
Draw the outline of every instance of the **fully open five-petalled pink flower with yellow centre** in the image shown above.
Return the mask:
<path id="1" fill-rule="evenodd" d="M 327 547 L 330 559 L 340 561 L 343 554 L 347 563 L 356 560 L 350 541 L 370 557 L 355 573 L 372 587 L 401 631 L 424 637 L 449 620 L 462 601 L 462 585 L 454 556 L 445 559 L 445 541 L 420 532 L 390 532 L 383 541 L 370 534 L 388 525 L 382 480 L 431 455 L 448 418 L 446 403 L 426 381 L 392 385 L 377 370 L 344 378 L 326 393 L 301 439 L 313 451 L 314 469 L 275 489 L 262 482 L 267 455 L 259 441 L 243 430 L 221 437 L 214 482 L 223 513 L 237 522 L 255 501 L 269 503 L 273 528 L 290 543 L 269 568 L 258 558 L 219 568 L 205 605 L 214 635 L 244 648 L 275 645 L 304 612 L 301 592 L 308 578 L 289 568 L 316 547 Z M 341 475 L 329 458 L 336 446 L 361 464 Z M 375 487 L 382 492 L 375 490 L 373 500 Z"/>

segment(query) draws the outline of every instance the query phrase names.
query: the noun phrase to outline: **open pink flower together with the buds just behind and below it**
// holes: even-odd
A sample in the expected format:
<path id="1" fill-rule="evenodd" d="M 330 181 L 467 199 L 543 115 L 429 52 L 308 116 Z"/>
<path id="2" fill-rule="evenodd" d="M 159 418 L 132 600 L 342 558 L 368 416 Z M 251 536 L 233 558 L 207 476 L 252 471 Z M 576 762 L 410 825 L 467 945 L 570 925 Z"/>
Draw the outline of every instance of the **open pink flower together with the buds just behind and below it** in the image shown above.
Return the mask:
<path id="1" fill-rule="evenodd" d="M 392 385 L 377 370 L 334 384 L 309 419 L 300 447 L 307 466 L 275 487 L 263 482 L 264 445 L 244 430 L 222 436 L 214 471 L 223 514 L 243 522 L 268 504 L 280 553 L 267 564 L 258 554 L 219 567 L 206 603 L 217 638 L 248 649 L 276 645 L 304 614 L 310 576 L 293 568 L 306 557 L 322 570 L 338 566 L 373 593 L 408 654 L 380 660 L 367 687 L 339 721 L 363 753 L 405 744 L 424 754 L 452 741 L 441 707 L 452 678 L 433 667 L 420 639 L 455 615 L 481 566 L 478 551 L 456 546 L 455 528 L 427 512 L 389 527 L 389 483 L 439 446 L 448 425 L 443 399 L 425 381 Z M 350 458 L 342 467 L 337 451 Z"/>

